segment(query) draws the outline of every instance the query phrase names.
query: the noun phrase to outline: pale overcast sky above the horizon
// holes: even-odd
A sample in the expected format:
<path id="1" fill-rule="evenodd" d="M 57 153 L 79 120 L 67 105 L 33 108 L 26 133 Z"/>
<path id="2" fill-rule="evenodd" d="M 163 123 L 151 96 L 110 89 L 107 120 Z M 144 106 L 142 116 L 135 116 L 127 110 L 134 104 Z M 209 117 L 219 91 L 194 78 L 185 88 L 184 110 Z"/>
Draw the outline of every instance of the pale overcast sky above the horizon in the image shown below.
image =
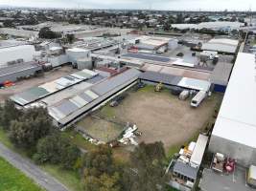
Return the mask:
<path id="1" fill-rule="evenodd" d="M 256 11 L 256 0 L 0 0 L 0 6 L 84 9 Z"/>

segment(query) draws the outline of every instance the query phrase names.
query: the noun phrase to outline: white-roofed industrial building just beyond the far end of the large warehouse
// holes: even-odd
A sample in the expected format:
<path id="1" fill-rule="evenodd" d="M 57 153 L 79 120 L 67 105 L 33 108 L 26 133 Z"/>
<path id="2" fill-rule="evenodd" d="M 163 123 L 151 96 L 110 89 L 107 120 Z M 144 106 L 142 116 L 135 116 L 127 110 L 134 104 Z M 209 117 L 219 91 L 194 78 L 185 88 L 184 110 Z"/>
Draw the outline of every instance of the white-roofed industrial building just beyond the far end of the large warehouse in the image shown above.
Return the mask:
<path id="1" fill-rule="evenodd" d="M 202 44 L 201 50 L 235 54 L 239 41 L 228 38 L 214 38 Z"/>

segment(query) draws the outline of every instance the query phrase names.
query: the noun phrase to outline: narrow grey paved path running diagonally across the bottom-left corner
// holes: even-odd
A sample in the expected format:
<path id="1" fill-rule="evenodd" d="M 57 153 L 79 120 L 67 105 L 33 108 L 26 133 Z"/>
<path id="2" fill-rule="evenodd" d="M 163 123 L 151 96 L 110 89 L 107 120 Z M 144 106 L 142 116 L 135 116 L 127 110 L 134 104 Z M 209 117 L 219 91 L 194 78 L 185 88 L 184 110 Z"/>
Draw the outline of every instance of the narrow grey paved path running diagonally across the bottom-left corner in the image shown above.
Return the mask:
<path id="1" fill-rule="evenodd" d="M 14 167 L 21 170 L 32 180 L 35 180 L 36 183 L 47 191 L 68 191 L 63 184 L 42 171 L 30 159 L 24 159 L 20 155 L 12 152 L 12 150 L 2 143 L 0 143 L 0 157 L 8 160 Z"/>

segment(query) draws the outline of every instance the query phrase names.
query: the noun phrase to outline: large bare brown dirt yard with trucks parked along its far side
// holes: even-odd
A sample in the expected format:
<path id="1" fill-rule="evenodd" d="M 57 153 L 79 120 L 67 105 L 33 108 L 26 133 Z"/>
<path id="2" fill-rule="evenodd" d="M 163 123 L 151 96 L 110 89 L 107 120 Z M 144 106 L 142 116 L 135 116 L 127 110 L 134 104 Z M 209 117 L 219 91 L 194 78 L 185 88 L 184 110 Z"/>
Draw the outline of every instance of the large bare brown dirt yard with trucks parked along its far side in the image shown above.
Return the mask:
<path id="1" fill-rule="evenodd" d="M 154 93 L 152 87 L 130 92 L 123 102 L 98 111 L 101 116 L 135 123 L 143 133 L 138 141 L 161 140 L 166 148 L 182 144 L 195 136 L 212 116 L 221 95 L 205 99 L 198 108 L 190 107 L 190 100 L 182 101 L 169 91 Z"/>

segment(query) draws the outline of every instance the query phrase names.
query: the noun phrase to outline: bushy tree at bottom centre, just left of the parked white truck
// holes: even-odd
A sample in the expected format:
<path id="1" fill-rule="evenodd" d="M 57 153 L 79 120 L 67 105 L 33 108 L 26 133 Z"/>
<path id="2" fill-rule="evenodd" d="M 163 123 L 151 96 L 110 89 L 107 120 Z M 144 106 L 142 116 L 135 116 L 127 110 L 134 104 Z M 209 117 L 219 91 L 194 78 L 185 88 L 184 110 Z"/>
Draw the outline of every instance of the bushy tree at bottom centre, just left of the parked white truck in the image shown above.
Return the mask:
<path id="1" fill-rule="evenodd" d="M 140 143 L 130 155 L 131 166 L 125 171 L 124 184 L 128 191 L 155 191 L 164 187 L 165 151 L 162 142 Z"/>

